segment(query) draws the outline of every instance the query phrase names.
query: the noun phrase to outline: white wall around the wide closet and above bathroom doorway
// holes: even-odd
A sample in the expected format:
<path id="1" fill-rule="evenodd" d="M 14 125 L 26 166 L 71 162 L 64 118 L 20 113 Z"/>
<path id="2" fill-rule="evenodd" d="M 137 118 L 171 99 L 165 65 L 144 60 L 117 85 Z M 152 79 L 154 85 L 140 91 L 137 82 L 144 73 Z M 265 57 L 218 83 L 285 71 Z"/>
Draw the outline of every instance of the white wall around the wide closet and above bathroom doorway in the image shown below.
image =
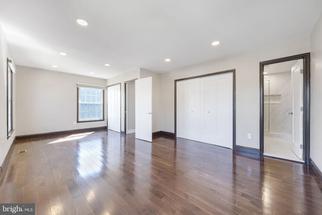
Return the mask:
<path id="1" fill-rule="evenodd" d="M 203 63 L 162 74 L 161 110 L 163 131 L 175 131 L 174 80 L 236 69 L 236 145 L 259 149 L 259 62 L 309 52 L 309 37 L 298 38 L 265 49 Z M 253 138 L 247 139 L 247 133 Z"/>

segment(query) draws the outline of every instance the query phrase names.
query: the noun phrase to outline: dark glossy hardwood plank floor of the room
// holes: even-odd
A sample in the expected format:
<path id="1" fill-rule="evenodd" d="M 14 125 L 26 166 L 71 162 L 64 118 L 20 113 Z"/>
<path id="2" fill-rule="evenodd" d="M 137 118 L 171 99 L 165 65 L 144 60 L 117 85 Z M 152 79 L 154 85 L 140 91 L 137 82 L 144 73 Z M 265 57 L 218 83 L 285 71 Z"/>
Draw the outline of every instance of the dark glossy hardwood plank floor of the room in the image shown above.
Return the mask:
<path id="1" fill-rule="evenodd" d="M 5 171 L 0 202 L 35 203 L 39 215 L 322 214 L 310 167 L 181 138 L 101 130 L 17 140 Z"/>

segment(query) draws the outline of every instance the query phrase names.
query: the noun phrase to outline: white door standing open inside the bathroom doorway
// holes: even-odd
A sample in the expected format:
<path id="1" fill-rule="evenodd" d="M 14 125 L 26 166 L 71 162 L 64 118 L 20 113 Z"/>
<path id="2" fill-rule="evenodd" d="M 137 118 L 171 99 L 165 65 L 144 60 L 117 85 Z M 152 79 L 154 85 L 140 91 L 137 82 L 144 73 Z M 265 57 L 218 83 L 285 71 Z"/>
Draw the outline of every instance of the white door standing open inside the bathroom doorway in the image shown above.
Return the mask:
<path id="1" fill-rule="evenodd" d="M 303 59 L 292 66 L 292 151 L 303 159 Z"/>

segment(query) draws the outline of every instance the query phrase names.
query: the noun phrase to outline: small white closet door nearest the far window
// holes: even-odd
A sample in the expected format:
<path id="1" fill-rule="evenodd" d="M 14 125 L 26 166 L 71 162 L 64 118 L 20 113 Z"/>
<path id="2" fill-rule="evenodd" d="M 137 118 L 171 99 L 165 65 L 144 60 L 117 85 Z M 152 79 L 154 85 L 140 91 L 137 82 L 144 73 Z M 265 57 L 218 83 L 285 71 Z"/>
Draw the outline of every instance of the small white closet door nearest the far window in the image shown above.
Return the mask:
<path id="1" fill-rule="evenodd" d="M 116 132 L 121 131 L 121 85 L 107 88 L 107 127 Z"/>

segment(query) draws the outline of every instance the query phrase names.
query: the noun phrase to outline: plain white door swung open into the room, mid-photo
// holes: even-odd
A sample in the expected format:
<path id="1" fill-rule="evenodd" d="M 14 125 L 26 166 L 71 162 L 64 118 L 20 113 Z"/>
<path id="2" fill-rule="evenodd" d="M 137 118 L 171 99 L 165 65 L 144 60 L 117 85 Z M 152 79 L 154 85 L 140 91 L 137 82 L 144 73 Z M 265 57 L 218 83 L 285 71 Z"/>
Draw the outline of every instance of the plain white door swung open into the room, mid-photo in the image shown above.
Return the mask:
<path id="1" fill-rule="evenodd" d="M 135 80 L 135 138 L 152 141 L 152 77 Z"/>

